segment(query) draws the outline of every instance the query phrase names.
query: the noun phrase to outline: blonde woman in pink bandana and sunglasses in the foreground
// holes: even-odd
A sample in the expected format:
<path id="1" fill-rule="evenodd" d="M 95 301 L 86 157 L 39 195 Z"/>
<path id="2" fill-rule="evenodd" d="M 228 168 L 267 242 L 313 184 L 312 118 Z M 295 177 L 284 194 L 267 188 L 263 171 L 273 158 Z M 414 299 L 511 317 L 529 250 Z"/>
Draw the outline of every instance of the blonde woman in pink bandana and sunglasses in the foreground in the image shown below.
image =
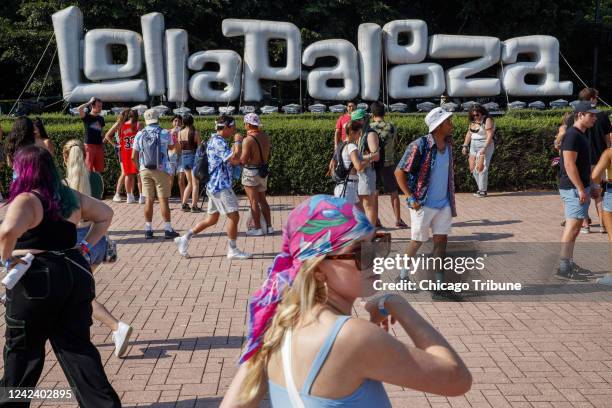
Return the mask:
<path id="1" fill-rule="evenodd" d="M 370 321 L 351 317 L 355 300 L 374 294 L 373 259 L 388 254 L 389 241 L 343 198 L 316 195 L 296 207 L 249 302 L 242 365 L 221 407 L 257 407 L 266 390 L 274 407 L 390 407 L 384 382 L 467 392 L 472 378 L 461 358 L 402 297 L 368 301 Z M 388 334 L 389 321 L 414 346 Z"/>

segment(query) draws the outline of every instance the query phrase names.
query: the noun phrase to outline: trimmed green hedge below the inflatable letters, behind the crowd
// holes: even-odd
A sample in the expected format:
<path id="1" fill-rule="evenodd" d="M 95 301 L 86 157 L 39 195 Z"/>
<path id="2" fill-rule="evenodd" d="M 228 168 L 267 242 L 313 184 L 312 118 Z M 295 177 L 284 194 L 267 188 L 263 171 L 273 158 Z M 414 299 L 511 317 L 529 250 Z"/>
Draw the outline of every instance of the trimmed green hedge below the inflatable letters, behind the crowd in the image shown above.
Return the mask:
<path id="1" fill-rule="evenodd" d="M 561 122 L 563 111 L 514 111 L 496 118 L 497 132 L 502 142 L 495 147 L 489 175 L 490 190 L 550 189 L 556 185 L 551 159 L 556 155 L 552 141 Z M 398 128 L 396 161 L 408 143 L 426 133 L 423 114 L 390 114 L 388 119 Z M 271 176 L 268 183 L 271 194 L 314 194 L 331 192 L 333 185 L 326 177 L 327 166 L 333 151 L 334 125 L 337 115 L 270 115 L 263 116 L 264 130 L 272 139 L 270 159 Z M 47 132 L 61 160 L 61 147 L 66 140 L 81 138 L 83 126 L 77 117 L 44 115 Z M 108 129 L 114 120 L 106 117 Z M 11 119 L 0 118 L 5 132 Z M 467 158 L 461 155 L 460 146 L 467 129 L 467 118 L 458 114 L 454 120 L 456 186 L 458 191 L 474 191 L 476 184 L 469 174 Z M 162 120 L 164 127 L 170 119 Z M 213 127 L 212 117 L 196 117 L 196 126 L 207 137 Z M 106 145 L 107 170 L 104 181 L 107 193 L 111 193 L 119 174 L 117 157 L 111 146 Z M 62 164 L 62 163 L 58 163 Z M 61 166 L 63 169 L 63 165 Z M 10 181 L 10 169 L 0 170 L 4 191 Z"/>

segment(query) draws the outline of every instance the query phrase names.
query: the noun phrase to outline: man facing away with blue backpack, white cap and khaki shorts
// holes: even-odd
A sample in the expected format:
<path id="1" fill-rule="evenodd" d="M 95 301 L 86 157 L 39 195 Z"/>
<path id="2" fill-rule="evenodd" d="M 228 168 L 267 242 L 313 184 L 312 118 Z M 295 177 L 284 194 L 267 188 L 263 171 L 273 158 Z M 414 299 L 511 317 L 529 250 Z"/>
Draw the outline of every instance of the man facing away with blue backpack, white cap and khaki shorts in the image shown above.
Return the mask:
<path id="1" fill-rule="evenodd" d="M 152 221 L 155 193 L 157 193 L 161 215 L 164 219 L 164 238 L 176 238 L 179 234 L 172 229 L 170 204 L 168 203 L 172 174 L 172 168 L 168 161 L 168 146 L 173 145 L 172 138 L 167 130 L 159 126 L 159 113 L 156 110 L 146 110 L 144 119 L 145 128 L 139 131 L 134 138 L 132 159 L 138 166 L 143 193 L 146 196 L 144 208 L 145 239 L 153 238 Z"/>

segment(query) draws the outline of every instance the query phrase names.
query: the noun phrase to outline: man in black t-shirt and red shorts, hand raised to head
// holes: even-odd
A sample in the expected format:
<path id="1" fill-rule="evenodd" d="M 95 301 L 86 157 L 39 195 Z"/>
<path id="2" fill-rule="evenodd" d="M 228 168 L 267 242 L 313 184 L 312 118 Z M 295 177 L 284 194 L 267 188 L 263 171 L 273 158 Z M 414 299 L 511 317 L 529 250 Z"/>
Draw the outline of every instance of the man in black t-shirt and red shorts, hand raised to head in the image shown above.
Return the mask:
<path id="1" fill-rule="evenodd" d="M 85 108 L 89 108 L 89 112 Z M 79 116 L 83 120 L 85 128 L 85 164 L 89 171 L 104 171 L 104 118 L 102 112 L 102 101 L 92 97 L 89 102 L 79 106 Z"/>

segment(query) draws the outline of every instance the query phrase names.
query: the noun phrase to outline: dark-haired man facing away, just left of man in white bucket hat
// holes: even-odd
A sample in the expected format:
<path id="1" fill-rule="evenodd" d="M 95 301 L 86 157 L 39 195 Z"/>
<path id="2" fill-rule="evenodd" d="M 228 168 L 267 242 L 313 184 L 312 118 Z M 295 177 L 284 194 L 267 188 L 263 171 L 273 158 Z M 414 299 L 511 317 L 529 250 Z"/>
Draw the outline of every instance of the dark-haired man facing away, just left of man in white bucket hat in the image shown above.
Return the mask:
<path id="1" fill-rule="evenodd" d="M 402 220 L 400 213 L 400 201 L 395 179 L 395 137 L 397 129 L 391 122 L 385 121 L 385 105 L 374 102 L 370 106 L 372 120 L 370 129 L 378 134 L 380 159 L 376 162 L 376 181 L 383 186 L 385 194 L 389 194 L 391 207 L 395 214 L 395 226 L 397 228 L 408 228 Z M 378 204 L 377 204 L 378 207 Z"/>

